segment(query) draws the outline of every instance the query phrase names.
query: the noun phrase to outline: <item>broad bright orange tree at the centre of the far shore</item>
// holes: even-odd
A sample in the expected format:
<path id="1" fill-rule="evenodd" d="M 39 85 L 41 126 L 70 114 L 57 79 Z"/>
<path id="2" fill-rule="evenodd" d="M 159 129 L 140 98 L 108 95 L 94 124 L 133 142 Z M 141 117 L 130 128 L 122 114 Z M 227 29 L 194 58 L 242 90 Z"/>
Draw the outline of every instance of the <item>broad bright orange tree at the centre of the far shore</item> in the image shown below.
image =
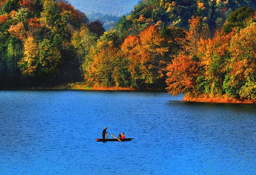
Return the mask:
<path id="1" fill-rule="evenodd" d="M 129 36 L 121 46 L 125 57 L 129 60 L 129 71 L 132 75 L 132 86 L 147 86 L 164 76 L 168 60 L 168 47 L 164 45 L 156 26 L 149 26 L 139 36 Z"/>

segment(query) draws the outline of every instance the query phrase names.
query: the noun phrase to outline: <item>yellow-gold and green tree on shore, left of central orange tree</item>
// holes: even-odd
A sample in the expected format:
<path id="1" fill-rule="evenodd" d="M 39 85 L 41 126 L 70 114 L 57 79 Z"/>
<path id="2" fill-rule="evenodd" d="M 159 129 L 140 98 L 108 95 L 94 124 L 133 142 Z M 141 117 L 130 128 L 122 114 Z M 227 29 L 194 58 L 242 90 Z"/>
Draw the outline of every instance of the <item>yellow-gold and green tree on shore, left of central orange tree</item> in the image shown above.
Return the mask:
<path id="1" fill-rule="evenodd" d="M 119 54 L 120 39 L 116 31 L 104 32 L 91 47 L 83 64 L 85 81 L 97 86 L 130 86 L 127 60 Z"/>

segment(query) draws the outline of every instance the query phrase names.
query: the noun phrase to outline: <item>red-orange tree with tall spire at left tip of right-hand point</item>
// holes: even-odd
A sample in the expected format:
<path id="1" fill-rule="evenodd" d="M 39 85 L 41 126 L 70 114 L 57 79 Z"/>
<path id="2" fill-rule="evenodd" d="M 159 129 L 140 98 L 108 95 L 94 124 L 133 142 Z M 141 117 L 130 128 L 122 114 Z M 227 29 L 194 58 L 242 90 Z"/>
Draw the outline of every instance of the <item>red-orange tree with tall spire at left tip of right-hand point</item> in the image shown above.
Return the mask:
<path id="1" fill-rule="evenodd" d="M 190 30 L 185 31 L 186 37 L 180 38 L 179 43 L 183 47 L 181 54 L 172 60 L 167 66 L 167 91 L 173 95 L 185 93 L 198 95 L 197 79 L 199 72 L 200 50 L 199 46 L 204 45 L 204 39 L 209 37 L 208 27 L 200 17 L 192 17 L 189 20 Z M 200 68 L 201 71 L 201 68 Z"/>

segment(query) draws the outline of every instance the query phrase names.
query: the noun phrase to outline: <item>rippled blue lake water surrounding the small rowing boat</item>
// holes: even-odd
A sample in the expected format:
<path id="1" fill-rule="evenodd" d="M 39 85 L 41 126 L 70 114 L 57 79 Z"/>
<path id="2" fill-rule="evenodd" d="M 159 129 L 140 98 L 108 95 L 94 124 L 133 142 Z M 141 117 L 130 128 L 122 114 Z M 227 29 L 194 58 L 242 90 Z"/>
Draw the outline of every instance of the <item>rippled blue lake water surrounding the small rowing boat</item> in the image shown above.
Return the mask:
<path id="1" fill-rule="evenodd" d="M 0 91 L 0 174 L 256 174 L 256 105 L 181 99 Z M 96 142 L 104 127 L 134 139 Z"/>

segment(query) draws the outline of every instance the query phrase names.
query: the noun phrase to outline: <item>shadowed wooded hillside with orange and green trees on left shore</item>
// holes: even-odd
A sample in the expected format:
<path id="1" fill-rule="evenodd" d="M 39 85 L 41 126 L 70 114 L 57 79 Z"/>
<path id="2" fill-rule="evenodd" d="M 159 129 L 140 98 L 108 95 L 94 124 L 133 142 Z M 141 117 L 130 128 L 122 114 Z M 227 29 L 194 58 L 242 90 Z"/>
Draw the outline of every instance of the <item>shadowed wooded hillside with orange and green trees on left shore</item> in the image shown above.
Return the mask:
<path id="1" fill-rule="evenodd" d="M 63 1 L 4 0 L 0 7 L 1 88 L 82 80 L 73 33 L 89 26 L 103 34 L 101 24 L 89 24 L 83 12 Z"/>

